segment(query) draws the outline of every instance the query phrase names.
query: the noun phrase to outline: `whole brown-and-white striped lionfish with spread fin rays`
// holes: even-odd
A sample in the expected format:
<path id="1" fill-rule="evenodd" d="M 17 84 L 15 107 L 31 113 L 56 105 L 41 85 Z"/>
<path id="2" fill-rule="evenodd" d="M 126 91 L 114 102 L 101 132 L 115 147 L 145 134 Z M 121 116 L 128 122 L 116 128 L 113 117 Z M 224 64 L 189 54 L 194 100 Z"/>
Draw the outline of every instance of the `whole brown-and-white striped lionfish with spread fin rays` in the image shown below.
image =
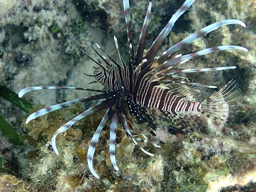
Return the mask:
<path id="1" fill-rule="evenodd" d="M 186 45 L 192 43 L 194 40 L 206 35 L 208 32 L 215 30 L 220 26 L 227 24 L 240 24 L 245 27 L 245 24 L 242 21 L 236 19 L 228 19 L 210 24 L 174 44 L 169 49 L 165 50 L 163 53 L 157 56 L 157 52 L 163 42 L 163 39 L 168 35 L 178 17 L 190 7 L 193 1 L 194 0 L 186 0 L 181 5 L 181 7 L 172 15 L 168 23 L 164 26 L 164 28 L 152 42 L 145 55 L 143 55 L 146 34 L 148 31 L 151 15 L 151 2 L 149 2 L 139 36 L 137 49 L 136 52 L 134 52 L 131 33 L 129 0 L 123 0 L 124 17 L 126 22 L 129 47 L 128 61 L 125 62 L 123 60 L 115 36 L 113 37 L 120 63 L 112 59 L 98 44 L 96 44 L 96 46 L 104 53 L 105 56 L 101 55 L 92 45 L 90 45 L 97 53 L 97 55 L 102 59 L 104 64 L 102 64 L 99 59 L 94 60 L 83 51 L 83 53 L 89 59 L 98 65 L 97 67 L 94 67 L 94 74 L 89 76 L 95 77 L 96 80 L 94 82 L 99 82 L 104 85 L 104 89 L 98 90 L 69 86 L 32 86 L 24 88 L 19 91 L 19 97 L 30 90 L 38 89 L 77 89 L 99 92 L 96 95 L 70 100 L 40 109 L 30 114 L 27 117 L 25 123 L 28 123 L 30 120 L 40 115 L 46 114 L 53 110 L 57 110 L 59 108 L 63 108 L 65 106 L 69 106 L 71 104 L 103 99 L 94 106 L 88 108 L 84 112 L 66 122 L 54 133 L 51 138 L 51 145 L 53 150 L 56 154 L 58 154 L 55 138 L 59 133 L 67 130 L 70 126 L 72 126 L 72 124 L 81 118 L 94 112 L 107 109 L 90 141 L 87 152 L 87 163 L 89 170 L 95 177 L 99 178 L 97 173 L 93 170 L 92 158 L 100 131 L 107 122 L 110 122 L 110 160 L 114 169 L 118 170 L 114 154 L 116 129 L 118 124 L 122 126 L 129 141 L 133 145 L 138 146 L 146 154 L 153 155 L 152 153 L 143 149 L 137 141 L 148 141 L 154 146 L 159 147 L 155 143 L 148 140 L 133 121 L 134 116 L 137 123 L 142 124 L 147 122 L 147 126 L 156 130 L 157 128 L 155 122 L 149 115 L 147 107 L 159 109 L 182 130 L 192 130 L 193 128 L 199 126 L 197 117 L 200 115 L 204 115 L 205 117 L 211 118 L 215 121 L 225 120 L 229 111 L 228 102 L 236 99 L 230 99 L 229 97 L 230 95 L 237 92 L 237 85 L 234 83 L 234 80 L 229 81 L 223 88 L 221 88 L 212 96 L 202 101 L 195 101 L 191 98 L 191 95 L 193 95 L 196 91 L 200 90 L 201 88 L 216 88 L 216 86 L 190 82 L 184 77 L 180 78 L 181 76 L 178 76 L 177 74 L 199 71 L 225 70 L 233 69 L 236 67 L 224 66 L 215 68 L 182 69 L 179 68 L 178 65 L 188 61 L 189 59 L 216 50 L 239 49 L 247 51 L 247 49 L 241 46 L 225 45 L 206 48 L 204 50 L 185 55 L 175 55 L 175 53 Z M 230 93 L 230 91 L 232 91 L 232 93 Z M 150 132 L 154 135 L 153 131 Z M 137 133 L 139 133 L 140 136 L 138 136 Z"/>

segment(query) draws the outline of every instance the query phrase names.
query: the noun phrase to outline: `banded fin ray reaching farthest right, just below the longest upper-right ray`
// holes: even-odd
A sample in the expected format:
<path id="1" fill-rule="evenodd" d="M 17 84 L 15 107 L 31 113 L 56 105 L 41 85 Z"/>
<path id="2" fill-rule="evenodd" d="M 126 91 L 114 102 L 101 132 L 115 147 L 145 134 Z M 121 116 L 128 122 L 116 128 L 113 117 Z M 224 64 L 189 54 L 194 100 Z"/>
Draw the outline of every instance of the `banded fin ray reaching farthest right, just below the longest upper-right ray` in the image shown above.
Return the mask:
<path id="1" fill-rule="evenodd" d="M 190 54 L 185 54 L 185 55 L 182 55 L 180 57 L 177 57 L 177 58 L 174 58 L 174 59 L 171 59 L 169 61 L 165 61 L 163 62 L 162 64 L 159 65 L 162 66 L 162 68 L 164 68 L 163 70 L 161 71 L 158 71 L 155 73 L 155 75 L 157 74 L 161 74 L 161 73 L 168 73 L 168 70 L 179 65 L 179 64 L 182 64 L 192 58 L 196 58 L 198 56 L 201 56 L 201 55 L 204 55 L 204 54 L 208 54 L 210 52 L 214 52 L 214 51 L 217 51 L 217 50 L 228 50 L 228 49 L 239 49 L 239 50 L 244 50 L 244 51 L 248 51 L 246 48 L 242 47 L 242 46 L 235 46 L 235 45 L 222 45 L 222 46 L 215 46 L 215 47 L 211 47 L 211 48 L 206 48 L 206 49 L 203 49 L 203 50 L 199 50 L 197 52 L 193 52 L 193 53 L 190 53 Z M 190 69 L 185 69 L 183 70 L 183 72 L 185 72 L 186 70 L 190 70 Z"/>

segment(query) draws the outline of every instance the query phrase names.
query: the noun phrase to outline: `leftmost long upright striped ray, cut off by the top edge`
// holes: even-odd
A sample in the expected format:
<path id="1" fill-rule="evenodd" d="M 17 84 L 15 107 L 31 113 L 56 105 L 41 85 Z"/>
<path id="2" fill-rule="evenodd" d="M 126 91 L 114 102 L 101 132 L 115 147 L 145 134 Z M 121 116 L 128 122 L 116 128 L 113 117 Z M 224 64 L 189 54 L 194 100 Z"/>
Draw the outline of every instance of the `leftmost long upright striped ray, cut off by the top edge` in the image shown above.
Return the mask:
<path id="1" fill-rule="evenodd" d="M 130 5 L 129 0 L 122 0 L 123 2 L 123 10 L 124 10 L 124 17 L 125 17 L 125 23 L 126 23 L 126 31 L 127 31 L 127 37 L 128 37 L 128 45 L 131 46 L 131 51 L 129 56 L 130 62 L 134 62 L 134 49 L 133 49 L 133 43 L 132 43 L 132 32 L 131 32 L 131 21 L 130 21 Z"/>

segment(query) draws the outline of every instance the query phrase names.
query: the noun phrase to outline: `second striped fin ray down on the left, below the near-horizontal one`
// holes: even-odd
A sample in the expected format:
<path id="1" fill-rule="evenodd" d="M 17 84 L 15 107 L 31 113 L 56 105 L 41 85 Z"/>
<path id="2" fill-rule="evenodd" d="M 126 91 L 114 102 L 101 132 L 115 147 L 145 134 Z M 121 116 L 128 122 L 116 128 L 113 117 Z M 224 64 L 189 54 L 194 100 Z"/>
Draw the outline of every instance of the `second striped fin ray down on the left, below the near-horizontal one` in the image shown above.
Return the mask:
<path id="1" fill-rule="evenodd" d="M 105 93 L 101 93 L 101 94 L 97 94 L 97 95 L 93 95 L 93 96 L 87 96 L 87 97 L 82 97 L 82 98 L 78 98 L 78 99 L 74 99 L 74 100 L 70 100 L 70 101 L 66 101 L 66 102 L 62 102 L 62 103 L 59 103 L 59 104 L 55 104 L 55 105 L 52 105 L 52 106 L 49 106 L 49 107 L 46 107 L 46 108 L 42 108 L 40 110 L 37 110 L 36 112 L 33 112 L 32 114 L 30 114 L 27 118 L 26 118 L 26 124 L 38 117 L 38 116 L 41 116 L 43 114 L 46 114 L 48 112 L 51 112 L 53 110 L 57 110 L 59 108 L 63 108 L 63 107 L 66 107 L 66 106 L 69 106 L 71 104 L 75 104 L 75 103 L 79 103 L 79 102 L 86 102 L 86 101 L 90 101 L 90 100 L 96 100 L 96 99 L 101 99 L 101 98 L 107 98 L 109 96 L 111 96 L 111 94 L 105 94 Z"/>

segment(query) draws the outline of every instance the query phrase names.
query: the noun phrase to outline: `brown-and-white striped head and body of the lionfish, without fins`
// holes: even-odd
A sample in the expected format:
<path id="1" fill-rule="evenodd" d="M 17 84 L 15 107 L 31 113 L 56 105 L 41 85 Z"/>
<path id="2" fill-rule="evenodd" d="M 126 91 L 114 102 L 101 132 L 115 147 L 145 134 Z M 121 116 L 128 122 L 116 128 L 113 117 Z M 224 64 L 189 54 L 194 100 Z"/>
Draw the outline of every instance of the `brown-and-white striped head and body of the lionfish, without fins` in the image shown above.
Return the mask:
<path id="1" fill-rule="evenodd" d="M 131 95 L 131 100 L 141 106 L 154 107 L 174 114 L 177 111 L 200 111 L 200 101 L 184 100 L 182 96 L 172 94 L 170 88 L 159 86 L 154 79 L 143 78 L 140 82 L 136 82 L 135 74 L 132 75 L 133 78 L 129 79 L 128 70 L 126 66 L 119 68 L 114 66 L 107 73 L 96 71 L 94 75 L 109 90 L 119 90 L 121 87 L 129 87 L 130 84 L 139 83 L 136 95 L 134 92 L 129 92 L 129 88 L 125 88 L 124 95 Z"/>

